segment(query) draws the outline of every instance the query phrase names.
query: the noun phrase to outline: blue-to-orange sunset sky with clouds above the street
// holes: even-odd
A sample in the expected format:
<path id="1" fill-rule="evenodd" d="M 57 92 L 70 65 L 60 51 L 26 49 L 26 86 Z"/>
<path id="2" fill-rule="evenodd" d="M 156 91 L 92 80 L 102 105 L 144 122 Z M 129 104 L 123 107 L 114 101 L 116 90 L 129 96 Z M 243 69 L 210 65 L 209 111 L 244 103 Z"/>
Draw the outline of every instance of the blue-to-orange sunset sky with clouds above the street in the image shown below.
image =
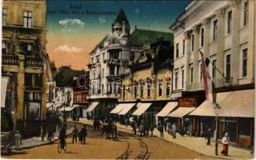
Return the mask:
<path id="1" fill-rule="evenodd" d="M 171 32 L 169 27 L 190 1 L 74 1 L 47 0 L 46 52 L 57 67 L 87 70 L 90 51 L 111 31 L 122 8 L 139 29 Z"/>

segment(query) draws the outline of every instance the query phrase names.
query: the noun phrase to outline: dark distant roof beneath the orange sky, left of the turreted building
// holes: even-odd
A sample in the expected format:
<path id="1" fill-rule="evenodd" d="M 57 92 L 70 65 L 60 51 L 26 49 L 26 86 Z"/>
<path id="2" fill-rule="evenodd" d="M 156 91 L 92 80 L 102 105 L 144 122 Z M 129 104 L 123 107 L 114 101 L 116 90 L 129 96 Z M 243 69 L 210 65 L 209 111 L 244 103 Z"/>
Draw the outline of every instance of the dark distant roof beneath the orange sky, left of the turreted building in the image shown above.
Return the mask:
<path id="1" fill-rule="evenodd" d="M 56 86 L 67 86 L 73 81 L 74 77 L 85 74 L 85 70 L 72 70 L 69 66 L 62 66 L 54 77 Z"/>

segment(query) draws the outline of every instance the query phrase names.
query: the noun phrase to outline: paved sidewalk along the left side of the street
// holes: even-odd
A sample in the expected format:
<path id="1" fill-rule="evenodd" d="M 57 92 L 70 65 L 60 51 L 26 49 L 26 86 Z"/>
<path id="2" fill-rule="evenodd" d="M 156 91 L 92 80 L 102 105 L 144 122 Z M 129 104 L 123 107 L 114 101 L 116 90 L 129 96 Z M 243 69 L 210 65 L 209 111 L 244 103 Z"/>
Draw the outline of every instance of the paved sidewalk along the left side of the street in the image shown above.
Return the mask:
<path id="1" fill-rule="evenodd" d="M 72 132 L 72 129 L 66 130 L 67 135 L 71 134 L 71 132 Z M 47 139 L 47 136 L 45 136 L 45 139 Z M 22 145 L 19 148 L 26 149 L 34 146 L 42 146 L 42 145 L 50 144 L 51 142 L 55 142 L 57 140 L 58 140 L 58 131 L 55 132 L 54 139 L 52 139 L 52 141 L 41 141 L 41 137 L 22 139 Z M 12 149 L 13 150 L 17 149 L 17 147 L 15 146 L 15 143 L 14 143 L 14 146 L 12 146 Z"/>

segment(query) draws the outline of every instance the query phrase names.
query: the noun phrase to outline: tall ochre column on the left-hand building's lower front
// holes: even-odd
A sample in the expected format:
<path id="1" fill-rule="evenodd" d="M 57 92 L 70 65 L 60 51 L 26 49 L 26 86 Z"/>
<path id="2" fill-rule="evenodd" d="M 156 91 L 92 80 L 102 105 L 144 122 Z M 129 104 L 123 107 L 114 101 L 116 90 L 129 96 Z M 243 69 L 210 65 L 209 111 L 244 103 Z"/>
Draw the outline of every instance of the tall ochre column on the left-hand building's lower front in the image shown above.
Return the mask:
<path id="1" fill-rule="evenodd" d="M 16 120 L 23 122 L 24 118 L 24 85 L 25 85 L 25 74 L 24 74 L 24 55 L 18 56 L 18 81 L 17 81 L 17 108 L 16 108 Z M 21 127 L 21 126 L 18 126 Z"/>

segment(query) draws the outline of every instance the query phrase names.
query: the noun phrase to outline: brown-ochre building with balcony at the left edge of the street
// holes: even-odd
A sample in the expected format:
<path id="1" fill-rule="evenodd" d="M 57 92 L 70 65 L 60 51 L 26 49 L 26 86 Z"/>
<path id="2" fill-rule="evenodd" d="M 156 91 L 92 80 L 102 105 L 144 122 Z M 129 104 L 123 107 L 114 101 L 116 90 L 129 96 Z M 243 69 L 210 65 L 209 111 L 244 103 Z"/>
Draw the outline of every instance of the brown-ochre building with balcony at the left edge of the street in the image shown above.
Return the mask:
<path id="1" fill-rule="evenodd" d="M 38 134 L 46 118 L 45 46 L 46 1 L 4 1 L 2 79 L 8 81 L 3 107 L 24 134 Z"/>

